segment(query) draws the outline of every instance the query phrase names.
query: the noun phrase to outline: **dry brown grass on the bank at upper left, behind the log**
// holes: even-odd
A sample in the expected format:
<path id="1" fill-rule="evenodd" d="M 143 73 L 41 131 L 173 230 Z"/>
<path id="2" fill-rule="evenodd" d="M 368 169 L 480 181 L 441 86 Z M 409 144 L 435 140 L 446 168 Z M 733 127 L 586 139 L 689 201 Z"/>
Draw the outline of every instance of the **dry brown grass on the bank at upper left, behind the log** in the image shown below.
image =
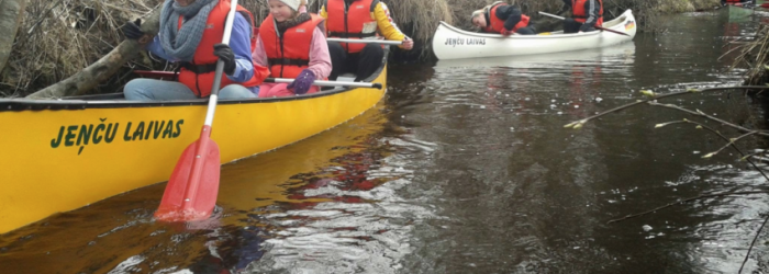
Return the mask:
<path id="1" fill-rule="evenodd" d="M 123 22 L 156 2 L 31 0 L 0 75 L 0 93 L 24 95 L 87 67 L 121 42 Z"/>

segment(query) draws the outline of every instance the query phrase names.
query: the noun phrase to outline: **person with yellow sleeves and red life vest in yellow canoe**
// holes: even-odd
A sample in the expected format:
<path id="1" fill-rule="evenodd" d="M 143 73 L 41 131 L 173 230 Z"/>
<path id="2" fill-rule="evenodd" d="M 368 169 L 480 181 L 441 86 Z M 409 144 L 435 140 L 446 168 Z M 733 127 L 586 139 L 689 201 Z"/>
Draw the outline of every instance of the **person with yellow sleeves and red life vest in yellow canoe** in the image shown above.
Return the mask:
<path id="1" fill-rule="evenodd" d="M 414 42 L 392 22 L 387 4 L 379 0 L 327 0 L 321 8 L 321 16 L 326 19 L 328 37 L 375 39 L 381 34 L 389 41 L 402 41 L 403 49 L 414 47 Z M 384 58 L 384 49 L 378 44 L 328 42 L 328 52 L 334 65 L 331 80 L 353 72 L 355 81 L 364 81 L 379 69 Z"/>

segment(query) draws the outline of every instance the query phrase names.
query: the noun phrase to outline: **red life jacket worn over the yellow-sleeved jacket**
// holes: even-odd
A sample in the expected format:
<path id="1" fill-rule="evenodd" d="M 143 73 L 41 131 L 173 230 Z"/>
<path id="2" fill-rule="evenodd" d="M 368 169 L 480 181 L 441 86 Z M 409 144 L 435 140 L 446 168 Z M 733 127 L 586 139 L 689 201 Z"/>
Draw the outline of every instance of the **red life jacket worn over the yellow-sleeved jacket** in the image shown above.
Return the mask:
<path id="1" fill-rule="evenodd" d="M 377 37 L 377 19 L 374 10 L 379 0 L 358 0 L 347 7 L 345 0 L 328 0 L 326 3 L 326 31 L 328 37 L 360 39 Z M 366 28 L 366 33 L 364 33 Z M 355 54 L 366 47 L 366 44 L 339 43 L 347 53 Z"/>

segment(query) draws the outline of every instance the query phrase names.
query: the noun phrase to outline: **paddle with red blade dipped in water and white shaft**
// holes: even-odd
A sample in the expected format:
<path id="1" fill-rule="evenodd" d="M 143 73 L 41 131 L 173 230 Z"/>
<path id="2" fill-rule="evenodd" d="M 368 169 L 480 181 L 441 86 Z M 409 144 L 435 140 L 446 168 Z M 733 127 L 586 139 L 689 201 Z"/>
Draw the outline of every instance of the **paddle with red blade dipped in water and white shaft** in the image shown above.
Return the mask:
<path id="1" fill-rule="evenodd" d="M 224 24 L 222 43 L 230 44 L 237 0 L 231 0 L 230 13 Z M 205 123 L 197 141 L 190 144 L 174 168 L 166 192 L 155 218 L 165 221 L 207 219 L 216 204 L 219 194 L 219 146 L 211 139 L 211 124 L 216 110 L 219 88 L 222 83 L 224 62 L 216 61 L 216 72 L 205 113 Z"/>

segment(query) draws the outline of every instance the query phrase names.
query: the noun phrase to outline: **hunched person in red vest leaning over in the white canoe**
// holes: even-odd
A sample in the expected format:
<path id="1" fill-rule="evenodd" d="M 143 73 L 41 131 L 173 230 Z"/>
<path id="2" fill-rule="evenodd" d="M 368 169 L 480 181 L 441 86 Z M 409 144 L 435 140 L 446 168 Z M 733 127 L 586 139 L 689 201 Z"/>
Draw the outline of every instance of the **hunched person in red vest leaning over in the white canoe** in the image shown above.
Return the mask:
<path id="1" fill-rule="evenodd" d="M 499 33 L 502 35 L 536 34 L 533 25 L 530 25 L 528 16 L 524 15 L 519 8 L 497 1 L 483 9 L 472 12 L 470 15 L 472 24 L 487 33 Z"/>

